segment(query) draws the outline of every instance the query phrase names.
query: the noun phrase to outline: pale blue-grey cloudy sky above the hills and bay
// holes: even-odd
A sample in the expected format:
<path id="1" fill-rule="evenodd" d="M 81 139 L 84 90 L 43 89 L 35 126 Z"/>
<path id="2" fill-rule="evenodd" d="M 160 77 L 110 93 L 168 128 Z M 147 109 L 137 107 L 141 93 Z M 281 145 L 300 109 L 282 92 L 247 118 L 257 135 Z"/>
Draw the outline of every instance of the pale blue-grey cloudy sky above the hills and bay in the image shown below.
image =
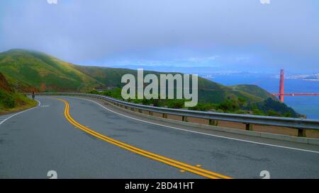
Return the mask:
<path id="1" fill-rule="evenodd" d="M 95 66 L 312 73 L 319 1 L 0 0 L 0 52 L 12 48 Z"/>

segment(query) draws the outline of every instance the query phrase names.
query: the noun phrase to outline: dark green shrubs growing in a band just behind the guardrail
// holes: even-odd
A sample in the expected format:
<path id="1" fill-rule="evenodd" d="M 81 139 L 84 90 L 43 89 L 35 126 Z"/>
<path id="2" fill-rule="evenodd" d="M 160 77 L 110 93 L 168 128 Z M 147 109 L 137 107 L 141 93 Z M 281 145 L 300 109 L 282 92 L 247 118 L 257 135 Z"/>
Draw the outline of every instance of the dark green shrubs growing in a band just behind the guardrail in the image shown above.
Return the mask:
<path id="1" fill-rule="evenodd" d="M 106 95 L 112 98 L 123 100 L 121 96 L 121 88 L 112 88 L 105 91 L 91 90 L 88 93 L 96 95 Z M 185 108 L 184 99 L 129 99 L 131 103 L 138 103 L 142 105 L 153 105 L 155 107 L 169 107 L 174 109 Z M 264 115 L 275 117 L 298 117 L 299 115 L 291 108 L 280 103 L 279 101 L 268 98 L 263 102 L 249 103 L 245 98 L 228 98 L 223 103 L 198 103 L 195 107 L 188 107 L 189 110 L 212 111 L 212 112 L 227 112 L 235 114 L 250 114 L 250 115 Z"/>

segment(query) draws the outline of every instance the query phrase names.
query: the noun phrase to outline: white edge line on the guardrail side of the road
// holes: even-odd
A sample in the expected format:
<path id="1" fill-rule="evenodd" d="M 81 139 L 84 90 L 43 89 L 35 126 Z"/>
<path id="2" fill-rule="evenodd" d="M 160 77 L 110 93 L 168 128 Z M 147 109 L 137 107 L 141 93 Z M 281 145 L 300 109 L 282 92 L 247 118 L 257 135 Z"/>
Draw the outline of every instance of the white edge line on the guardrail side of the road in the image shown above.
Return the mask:
<path id="1" fill-rule="evenodd" d="M 89 99 L 86 99 L 86 98 L 79 98 L 79 99 L 89 100 Z M 288 148 L 288 149 L 297 150 L 297 151 L 307 151 L 307 152 L 311 152 L 311 153 L 319 153 L 319 151 L 311 151 L 311 150 L 306 150 L 306 149 L 302 149 L 302 148 L 291 148 L 291 147 L 287 147 L 287 146 L 278 146 L 278 145 L 274 145 L 274 144 L 264 144 L 264 143 L 260 143 L 260 142 L 256 142 L 256 141 L 248 141 L 248 140 L 245 140 L 245 139 L 236 139 L 236 138 L 232 138 L 232 137 L 228 137 L 228 136 L 219 136 L 219 135 L 214 135 L 214 134 L 206 134 L 206 133 L 202 133 L 202 132 L 198 132 L 198 131 L 190 131 L 190 130 L 187 130 L 187 129 L 171 127 L 171 126 L 167 126 L 167 125 L 164 125 L 164 124 L 157 124 L 157 123 L 154 123 L 154 122 L 147 122 L 147 121 L 142 120 L 142 119 L 136 119 L 136 118 L 133 118 L 133 117 L 130 117 L 130 116 L 127 116 L 127 115 L 123 115 L 123 114 L 118 113 L 118 112 L 114 112 L 113 110 L 110 110 L 107 107 L 104 107 L 103 105 L 97 103 L 94 100 L 89 100 L 89 101 L 91 101 L 92 103 L 96 103 L 97 105 L 103 107 L 104 109 L 106 109 L 106 110 L 108 110 L 110 112 L 116 113 L 118 115 L 121 115 L 123 117 L 128 117 L 130 119 L 135 119 L 135 120 L 138 120 L 140 122 L 146 122 L 146 123 L 150 123 L 150 124 L 155 124 L 155 125 L 162 126 L 162 127 L 168 127 L 168 128 L 171 128 L 171 129 L 178 129 L 178 130 L 181 130 L 181 131 L 187 131 L 187 132 L 196 133 L 196 134 L 203 134 L 203 135 L 208 135 L 208 136 L 216 136 L 216 137 L 220 137 L 220 138 L 223 138 L 223 139 L 232 139 L 232 140 L 235 140 L 235 141 L 243 141 L 243 142 L 247 142 L 247 143 L 259 144 L 259 145 L 264 145 L 264 146 L 273 146 L 273 147 L 277 147 L 277 148 Z"/>

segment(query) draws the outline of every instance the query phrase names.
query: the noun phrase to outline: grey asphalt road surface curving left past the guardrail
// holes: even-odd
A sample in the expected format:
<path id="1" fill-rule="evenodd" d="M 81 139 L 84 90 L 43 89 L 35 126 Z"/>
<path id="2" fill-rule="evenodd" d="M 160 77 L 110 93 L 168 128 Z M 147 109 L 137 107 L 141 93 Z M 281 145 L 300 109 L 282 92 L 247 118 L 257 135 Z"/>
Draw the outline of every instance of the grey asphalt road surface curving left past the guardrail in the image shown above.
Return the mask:
<path id="1" fill-rule="evenodd" d="M 73 124 L 57 98 L 68 102 Z M 182 131 L 119 115 L 82 98 L 37 99 L 40 106 L 0 124 L 0 178 L 48 178 L 49 170 L 58 178 L 206 178 L 208 172 L 218 178 L 262 178 L 262 170 L 271 178 L 319 178 L 318 146 L 267 139 L 256 144 Z"/>

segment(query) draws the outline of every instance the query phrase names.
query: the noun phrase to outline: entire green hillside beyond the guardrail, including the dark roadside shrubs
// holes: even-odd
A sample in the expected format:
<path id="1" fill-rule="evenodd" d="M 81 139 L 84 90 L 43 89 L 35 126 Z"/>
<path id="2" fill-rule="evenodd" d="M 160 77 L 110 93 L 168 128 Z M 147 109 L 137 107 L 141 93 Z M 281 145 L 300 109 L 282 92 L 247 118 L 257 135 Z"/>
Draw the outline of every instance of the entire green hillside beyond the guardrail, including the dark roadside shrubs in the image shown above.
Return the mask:
<path id="1" fill-rule="evenodd" d="M 21 92 L 87 92 L 114 87 L 119 89 L 124 85 L 121 83 L 124 74 L 137 75 L 137 71 L 132 69 L 79 66 L 41 52 L 24 49 L 11 49 L 0 53 L 0 72 L 6 76 L 13 88 Z M 147 74 L 159 76 L 161 72 L 144 71 L 144 75 Z M 105 94 L 121 97 L 119 90 L 106 91 Z M 133 102 L 179 108 L 184 104 L 182 100 Z M 201 77 L 198 77 L 198 102 L 198 105 L 193 107 L 194 110 L 297 116 L 291 108 L 280 102 L 276 103 L 277 99 L 272 94 L 258 86 L 223 86 Z"/>

